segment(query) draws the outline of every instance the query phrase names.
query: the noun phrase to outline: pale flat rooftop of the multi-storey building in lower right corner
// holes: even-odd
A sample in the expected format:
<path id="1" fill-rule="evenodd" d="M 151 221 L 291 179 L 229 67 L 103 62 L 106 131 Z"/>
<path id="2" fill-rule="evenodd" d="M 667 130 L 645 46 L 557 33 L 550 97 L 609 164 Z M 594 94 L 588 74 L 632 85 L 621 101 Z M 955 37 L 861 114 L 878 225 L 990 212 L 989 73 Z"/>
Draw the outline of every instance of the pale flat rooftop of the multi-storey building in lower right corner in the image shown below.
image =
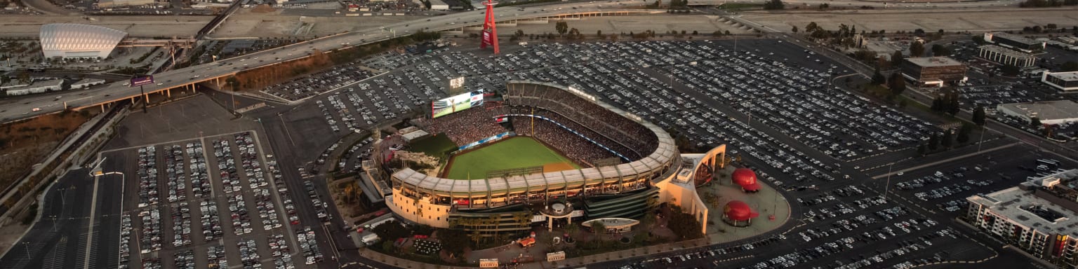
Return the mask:
<path id="1" fill-rule="evenodd" d="M 1061 176 L 1078 176 L 1078 170 L 1067 170 L 1035 179 L 1022 183 L 1023 186 L 971 196 L 968 200 L 984 204 L 995 214 L 1019 225 L 1041 231 L 1078 237 L 1078 214 L 1061 204 L 1038 197 L 1034 192 L 1026 190 L 1031 187 L 1038 187 L 1045 181 L 1058 182 Z"/>

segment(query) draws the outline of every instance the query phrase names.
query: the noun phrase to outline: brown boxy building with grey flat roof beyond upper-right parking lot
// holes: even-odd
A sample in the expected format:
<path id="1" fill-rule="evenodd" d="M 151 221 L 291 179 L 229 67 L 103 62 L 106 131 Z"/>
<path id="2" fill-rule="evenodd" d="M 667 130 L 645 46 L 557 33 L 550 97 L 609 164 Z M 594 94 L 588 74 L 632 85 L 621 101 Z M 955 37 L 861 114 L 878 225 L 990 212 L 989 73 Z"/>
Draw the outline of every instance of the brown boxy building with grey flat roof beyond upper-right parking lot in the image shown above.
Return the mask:
<path id="1" fill-rule="evenodd" d="M 922 85 L 942 87 L 944 83 L 966 81 L 966 63 L 948 57 L 908 58 L 902 61 L 902 75 Z"/>

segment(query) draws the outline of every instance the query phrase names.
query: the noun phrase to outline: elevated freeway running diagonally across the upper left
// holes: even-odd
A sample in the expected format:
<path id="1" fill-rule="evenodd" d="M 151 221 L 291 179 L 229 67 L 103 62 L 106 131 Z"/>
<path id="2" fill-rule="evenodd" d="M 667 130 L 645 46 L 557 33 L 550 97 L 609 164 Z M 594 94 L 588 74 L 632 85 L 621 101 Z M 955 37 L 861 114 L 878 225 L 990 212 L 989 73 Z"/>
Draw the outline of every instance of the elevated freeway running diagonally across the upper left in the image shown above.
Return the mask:
<path id="1" fill-rule="evenodd" d="M 499 22 L 514 23 L 522 19 L 537 18 L 581 19 L 592 16 L 665 13 L 663 10 L 623 9 L 623 6 L 617 2 L 561 3 L 529 8 L 505 6 L 496 9 L 495 14 L 497 14 L 496 16 Z M 384 27 L 391 29 L 391 32 L 383 28 L 344 32 L 206 65 L 162 72 L 154 74 L 155 84 L 146 85 L 144 90 L 146 95 L 162 94 L 170 96 L 172 90 L 194 90 L 195 84 L 198 83 L 222 85 L 222 79 L 244 70 L 304 58 L 316 49 L 329 53 L 344 47 L 388 40 L 398 34 L 407 36 L 419 30 L 461 31 L 468 27 L 481 26 L 483 24 L 483 11 L 469 11 L 398 23 Z M 17 103 L 0 104 L 0 122 L 6 123 L 30 118 L 59 112 L 65 109 L 79 110 L 100 105 L 103 110 L 105 105 L 109 103 L 139 98 L 141 95 L 139 89 L 129 87 L 126 84 L 127 82 L 115 82 L 88 90 L 61 91 L 50 96 L 27 98 L 25 101 Z M 40 111 L 33 111 L 34 109 L 40 109 Z"/>

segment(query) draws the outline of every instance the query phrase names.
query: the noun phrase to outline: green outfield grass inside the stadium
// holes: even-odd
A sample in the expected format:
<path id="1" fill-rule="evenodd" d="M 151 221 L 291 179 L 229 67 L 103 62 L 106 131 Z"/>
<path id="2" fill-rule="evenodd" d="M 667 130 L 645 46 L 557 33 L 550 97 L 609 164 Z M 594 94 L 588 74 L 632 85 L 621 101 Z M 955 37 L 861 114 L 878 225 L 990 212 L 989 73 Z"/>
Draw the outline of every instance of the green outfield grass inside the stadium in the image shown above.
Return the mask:
<path id="1" fill-rule="evenodd" d="M 453 157 L 446 178 L 453 180 L 484 179 L 493 170 L 537 167 L 554 162 L 565 162 L 573 169 L 573 164 L 554 150 L 528 137 L 514 137 L 482 148 Z"/>

